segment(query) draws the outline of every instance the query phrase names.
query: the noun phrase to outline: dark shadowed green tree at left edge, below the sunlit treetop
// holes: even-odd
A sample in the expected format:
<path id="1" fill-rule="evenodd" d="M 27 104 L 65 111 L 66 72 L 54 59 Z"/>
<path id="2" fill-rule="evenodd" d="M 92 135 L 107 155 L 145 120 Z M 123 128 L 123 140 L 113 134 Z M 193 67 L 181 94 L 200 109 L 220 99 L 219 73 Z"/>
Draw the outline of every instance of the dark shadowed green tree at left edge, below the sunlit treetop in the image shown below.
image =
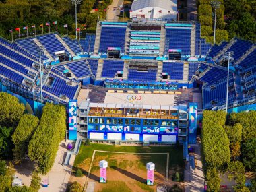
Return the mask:
<path id="1" fill-rule="evenodd" d="M 12 158 L 13 142 L 11 135 L 13 128 L 0 127 L 0 156 L 2 158 Z"/>

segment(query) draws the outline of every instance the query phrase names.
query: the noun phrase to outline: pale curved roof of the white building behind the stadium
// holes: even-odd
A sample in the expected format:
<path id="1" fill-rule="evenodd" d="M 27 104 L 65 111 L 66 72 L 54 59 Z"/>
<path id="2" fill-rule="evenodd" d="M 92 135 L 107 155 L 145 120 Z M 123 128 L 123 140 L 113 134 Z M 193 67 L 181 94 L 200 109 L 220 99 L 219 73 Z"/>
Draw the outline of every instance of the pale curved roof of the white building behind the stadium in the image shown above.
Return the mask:
<path id="1" fill-rule="evenodd" d="M 136 11 L 146 7 L 159 7 L 168 10 L 173 7 L 173 2 L 177 2 L 177 0 L 134 0 L 131 5 L 131 11 Z"/>

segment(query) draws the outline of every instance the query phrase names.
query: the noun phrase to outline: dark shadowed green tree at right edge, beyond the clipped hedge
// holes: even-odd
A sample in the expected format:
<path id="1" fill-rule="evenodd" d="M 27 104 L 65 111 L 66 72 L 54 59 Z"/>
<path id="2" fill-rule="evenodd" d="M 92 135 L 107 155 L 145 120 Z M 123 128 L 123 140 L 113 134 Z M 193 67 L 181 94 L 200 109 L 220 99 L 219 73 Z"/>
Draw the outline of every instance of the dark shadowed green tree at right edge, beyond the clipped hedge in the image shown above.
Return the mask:
<path id="1" fill-rule="evenodd" d="M 256 137 L 243 143 L 241 154 L 245 168 L 256 172 Z"/>

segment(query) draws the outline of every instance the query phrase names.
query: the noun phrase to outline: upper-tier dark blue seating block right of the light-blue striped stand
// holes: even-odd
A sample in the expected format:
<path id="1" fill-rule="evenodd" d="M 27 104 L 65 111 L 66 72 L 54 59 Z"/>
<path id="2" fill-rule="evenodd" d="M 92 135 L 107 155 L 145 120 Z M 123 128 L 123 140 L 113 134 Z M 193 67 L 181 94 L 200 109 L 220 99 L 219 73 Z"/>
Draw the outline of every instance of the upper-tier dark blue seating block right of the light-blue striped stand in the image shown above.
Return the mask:
<path id="1" fill-rule="evenodd" d="M 169 49 L 181 49 L 182 55 L 190 55 L 192 24 L 165 24 L 165 54 Z"/>

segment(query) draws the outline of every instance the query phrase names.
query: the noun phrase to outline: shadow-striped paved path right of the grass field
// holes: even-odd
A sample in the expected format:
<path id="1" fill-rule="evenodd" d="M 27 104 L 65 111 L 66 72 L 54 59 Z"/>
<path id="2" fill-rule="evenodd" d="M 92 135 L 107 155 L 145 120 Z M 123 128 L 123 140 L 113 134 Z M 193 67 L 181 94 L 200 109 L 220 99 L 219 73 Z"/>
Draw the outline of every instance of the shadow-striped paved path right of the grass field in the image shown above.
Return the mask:
<path id="1" fill-rule="evenodd" d="M 191 145 L 192 146 L 192 145 Z M 201 162 L 201 145 L 193 145 L 195 148 L 195 170 L 191 170 L 189 162 L 185 165 L 185 192 L 204 191 L 204 175 Z"/>

